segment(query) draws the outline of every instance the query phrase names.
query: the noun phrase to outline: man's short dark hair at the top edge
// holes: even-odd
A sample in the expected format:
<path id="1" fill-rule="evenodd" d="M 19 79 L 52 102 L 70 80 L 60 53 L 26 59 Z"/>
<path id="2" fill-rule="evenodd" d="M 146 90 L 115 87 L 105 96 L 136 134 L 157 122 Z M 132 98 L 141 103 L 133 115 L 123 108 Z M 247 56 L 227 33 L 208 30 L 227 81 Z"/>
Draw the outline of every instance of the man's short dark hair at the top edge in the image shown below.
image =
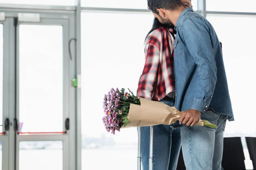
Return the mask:
<path id="1" fill-rule="evenodd" d="M 180 0 L 148 0 L 148 9 L 155 14 L 159 14 L 157 11 L 159 8 L 175 11 L 181 5 Z"/>

